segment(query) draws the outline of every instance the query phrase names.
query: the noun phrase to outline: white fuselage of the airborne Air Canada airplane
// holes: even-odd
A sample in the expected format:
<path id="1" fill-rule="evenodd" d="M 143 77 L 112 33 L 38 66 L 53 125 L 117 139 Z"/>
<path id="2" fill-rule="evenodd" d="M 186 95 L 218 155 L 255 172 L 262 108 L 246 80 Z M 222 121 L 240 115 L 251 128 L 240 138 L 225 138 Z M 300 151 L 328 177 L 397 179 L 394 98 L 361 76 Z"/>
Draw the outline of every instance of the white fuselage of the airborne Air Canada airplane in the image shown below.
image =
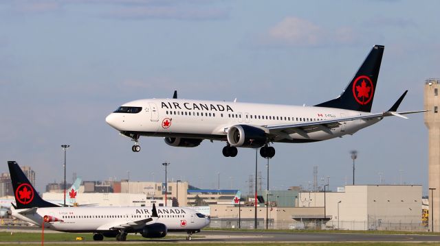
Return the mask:
<path id="1" fill-rule="evenodd" d="M 232 125 L 285 125 L 370 114 L 339 108 L 187 99 L 142 99 L 124 103 L 122 107 L 137 107 L 140 111 L 113 112 L 107 116 L 106 121 L 127 136 L 139 134 L 209 140 L 226 140 L 228 128 Z M 354 134 L 378 121 L 380 119 L 345 121 L 339 127 L 331 128 L 331 133 L 316 131 L 304 136 L 294 132 L 288 134 L 288 138 L 274 138 L 271 142 L 307 143 L 327 140 Z"/>

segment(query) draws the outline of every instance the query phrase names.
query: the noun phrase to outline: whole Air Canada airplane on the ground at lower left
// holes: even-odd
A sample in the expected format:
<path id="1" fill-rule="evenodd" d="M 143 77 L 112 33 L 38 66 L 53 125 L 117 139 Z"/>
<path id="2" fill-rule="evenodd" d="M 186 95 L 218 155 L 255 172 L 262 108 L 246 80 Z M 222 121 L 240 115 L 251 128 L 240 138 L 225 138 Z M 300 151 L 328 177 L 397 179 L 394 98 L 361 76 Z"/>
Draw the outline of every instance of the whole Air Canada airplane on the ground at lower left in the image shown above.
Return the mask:
<path id="1" fill-rule="evenodd" d="M 37 226 L 59 232 L 92 232 L 95 241 L 104 236 L 125 241 L 128 233 L 145 238 L 162 238 L 167 232 L 192 233 L 210 223 L 203 214 L 171 207 L 59 207 L 41 199 L 17 162 L 8 161 L 17 206 L 8 214 Z"/>

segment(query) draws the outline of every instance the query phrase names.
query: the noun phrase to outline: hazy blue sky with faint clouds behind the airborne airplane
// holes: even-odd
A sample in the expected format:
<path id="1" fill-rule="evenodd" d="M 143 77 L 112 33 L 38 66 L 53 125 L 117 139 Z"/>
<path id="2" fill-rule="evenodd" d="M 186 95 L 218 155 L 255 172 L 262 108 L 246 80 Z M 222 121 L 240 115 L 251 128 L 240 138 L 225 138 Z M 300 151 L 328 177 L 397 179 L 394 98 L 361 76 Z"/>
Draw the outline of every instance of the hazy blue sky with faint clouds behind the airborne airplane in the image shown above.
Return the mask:
<path id="1" fill-rule="evenodd" d="M 423 82 L 439 77 L 438 1 L 28 0 L 0 2 L 0 171 L 17 160 L 39 190 L 67 177 L 170 179 L 248 191 L 254 150 L 223 158 L 224 143 L 175 148 L 142 138 L 142 151 L 105 116 L 126 101 L 186 99 L 314 105 L 338 96 L 373 45 L 385 45 L 373 103 L 423 109 Z M 386 119 L 344 138 L 275 144 L 271 188 L 329 176 L 335 190 L 358 184 L 423 184 L 428 134 L 423 114 Z M 265 160 L 259 158 L 259 169 Z M 401 171 L 399 171 L 401 170 Z M 263 170 L 265 177 L 265 171 Z"/>

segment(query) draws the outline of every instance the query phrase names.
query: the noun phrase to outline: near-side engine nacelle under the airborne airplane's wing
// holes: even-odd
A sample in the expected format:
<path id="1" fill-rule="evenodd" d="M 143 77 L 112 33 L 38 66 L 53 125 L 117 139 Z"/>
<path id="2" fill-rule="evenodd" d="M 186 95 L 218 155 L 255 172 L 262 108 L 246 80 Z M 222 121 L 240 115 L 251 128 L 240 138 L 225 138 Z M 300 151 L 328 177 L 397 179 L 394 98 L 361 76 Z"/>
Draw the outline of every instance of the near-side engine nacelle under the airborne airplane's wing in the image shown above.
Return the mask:
<path id="1" fill-rule="evenodd" d="M 228 143 L 234 147 L 261 147 L 266 144 L 266 133 L 250 125 L 234 125 L 228 130 Z"/>

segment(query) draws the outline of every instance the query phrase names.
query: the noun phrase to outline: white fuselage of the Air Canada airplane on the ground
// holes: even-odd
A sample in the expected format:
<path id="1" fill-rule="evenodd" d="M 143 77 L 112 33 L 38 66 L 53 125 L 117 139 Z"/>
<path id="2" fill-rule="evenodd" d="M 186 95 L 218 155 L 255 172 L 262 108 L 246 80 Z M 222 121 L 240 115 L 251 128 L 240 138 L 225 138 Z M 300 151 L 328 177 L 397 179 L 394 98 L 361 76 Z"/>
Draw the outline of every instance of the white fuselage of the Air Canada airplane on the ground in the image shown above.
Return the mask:
<path id="1" fill-rule="evenodd" d="M 61 232 L 106 232 L 111 227 L 151 218 L 151 208 L 146 207 L 61 207 L 38 208 L 33 214 L 20 214 L 25 209 L 12 210 L 12 216 L 41 226 L 45 215 L 61 221 L 45 223 L 45 227 Z M 195 210 L 159 207 L 157 223 L 166 225 L 168 232 L 197 231 L 210 223 L 207 217 L 197 216 Z M 126 232 L 131 232 L 127 229 Z"/>

